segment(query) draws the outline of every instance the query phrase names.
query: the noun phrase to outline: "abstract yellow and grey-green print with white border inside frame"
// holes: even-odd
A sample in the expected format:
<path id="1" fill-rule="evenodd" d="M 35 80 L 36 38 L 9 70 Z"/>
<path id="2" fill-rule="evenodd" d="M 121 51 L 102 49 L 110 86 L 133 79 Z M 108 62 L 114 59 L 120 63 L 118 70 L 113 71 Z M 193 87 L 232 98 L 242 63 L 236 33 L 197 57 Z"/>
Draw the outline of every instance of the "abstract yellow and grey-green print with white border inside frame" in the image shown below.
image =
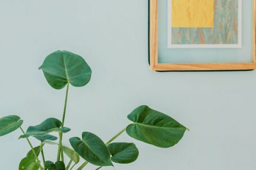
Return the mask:
<path id="1" fill-rule="evenodd" d="M 242 0 L 168 1 L 168 48 L 241 48 Z"/>

